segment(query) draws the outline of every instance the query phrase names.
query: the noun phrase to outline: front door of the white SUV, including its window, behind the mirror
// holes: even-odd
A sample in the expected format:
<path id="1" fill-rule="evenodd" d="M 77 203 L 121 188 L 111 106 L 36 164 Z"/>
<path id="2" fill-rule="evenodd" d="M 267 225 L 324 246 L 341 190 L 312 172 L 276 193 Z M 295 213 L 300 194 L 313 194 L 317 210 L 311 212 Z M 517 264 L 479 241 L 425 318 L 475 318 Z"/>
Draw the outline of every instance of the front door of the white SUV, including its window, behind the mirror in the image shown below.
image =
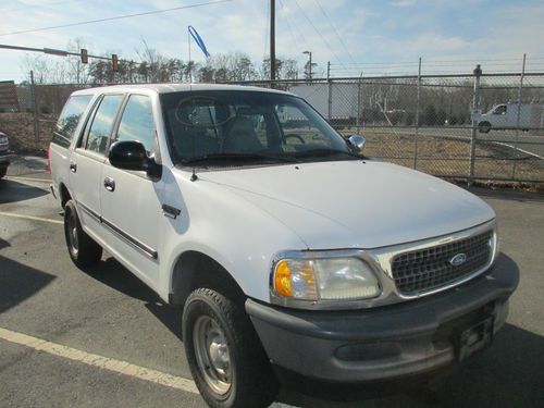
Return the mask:
<path id="1" fill-rule="evenodd" d="M 112 137 L 112 143 L 118 140 L 139 140 L 148 154 L 160 156 L 149 96 L 133 94 L 127 98 Z M 144 171 L 114 168 L 109 161 L 101 178 L 102 223 L 108 242 L 118 259 L 154 288 L 159 280 L 163 182 L 151 180 Z"/>

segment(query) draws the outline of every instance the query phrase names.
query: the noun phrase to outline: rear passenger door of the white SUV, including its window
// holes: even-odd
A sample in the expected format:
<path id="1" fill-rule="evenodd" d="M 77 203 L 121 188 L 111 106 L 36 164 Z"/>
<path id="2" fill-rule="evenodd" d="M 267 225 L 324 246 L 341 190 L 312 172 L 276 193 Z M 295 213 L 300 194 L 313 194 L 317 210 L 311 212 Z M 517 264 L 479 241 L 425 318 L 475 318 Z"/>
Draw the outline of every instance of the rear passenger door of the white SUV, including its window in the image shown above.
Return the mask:
<path id="1" fill-rule="evenodd" d="M 70 157 L 70 186 L 83 227 L 98 240 L 103 238 L 100 224 L 100 186 L 106 148 L 123 101 L 123 95 L 104 95 L 95 104 L 82 137 Z"/>

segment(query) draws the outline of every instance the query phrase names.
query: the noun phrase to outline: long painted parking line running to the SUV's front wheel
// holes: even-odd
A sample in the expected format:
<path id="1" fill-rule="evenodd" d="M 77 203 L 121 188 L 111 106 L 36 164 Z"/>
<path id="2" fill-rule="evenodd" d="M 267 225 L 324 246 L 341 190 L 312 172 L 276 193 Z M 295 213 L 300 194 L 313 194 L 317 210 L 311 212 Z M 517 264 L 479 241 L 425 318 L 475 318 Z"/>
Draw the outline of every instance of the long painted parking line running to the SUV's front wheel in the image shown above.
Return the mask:
<path id="1" fill-rule="evenodd" d="M 185 391 L 187 393 L 198 394 L 198 388 L 191 380 L 166 374 L 145 367 L 139 367 L 127 361 L 115 360 L 113 358 L 82 351 L 72 347 L 47 342 L 41 338 L 33 337 L 27 334 L 13 332 L 11 330 L 2 327 L 0 327 L 0 339 L 30 347 L 35 350 L 45 351 L 53 356 L 67 358 L 69 360 L 83 362 L 87 366 L 119 372 L 124 375 L 149 381 L 151 383 L 164 385 L 171 388 Z"/>

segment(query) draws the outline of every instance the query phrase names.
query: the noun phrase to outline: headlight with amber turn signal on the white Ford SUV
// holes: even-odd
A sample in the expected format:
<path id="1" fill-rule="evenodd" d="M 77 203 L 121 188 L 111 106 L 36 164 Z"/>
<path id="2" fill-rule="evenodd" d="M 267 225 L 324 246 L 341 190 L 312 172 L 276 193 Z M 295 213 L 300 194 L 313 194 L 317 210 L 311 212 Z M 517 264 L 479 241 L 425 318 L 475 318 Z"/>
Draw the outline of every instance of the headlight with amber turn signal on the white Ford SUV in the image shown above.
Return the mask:
<path id="1" fill-rule="evenodd" d="M 282 259 L 271 281 L 277 297 L 293 300 L 360 300 L 381 294 L 376 276 L 359 258 Z"/>

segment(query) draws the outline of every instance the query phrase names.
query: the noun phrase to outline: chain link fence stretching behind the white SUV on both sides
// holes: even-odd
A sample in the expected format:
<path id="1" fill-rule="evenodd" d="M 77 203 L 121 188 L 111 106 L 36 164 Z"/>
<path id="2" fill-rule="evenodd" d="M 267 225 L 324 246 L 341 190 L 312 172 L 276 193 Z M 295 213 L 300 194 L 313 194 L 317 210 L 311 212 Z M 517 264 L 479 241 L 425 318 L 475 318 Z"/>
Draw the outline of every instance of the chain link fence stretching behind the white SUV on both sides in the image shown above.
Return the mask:
<path id="1" fill-rule="evenodd" d="M 250 82 L 310 102 L 367 156 L 433 175 L 544 183 L 544 74 L 406 75 Z M 46 149 L 69 95 L 84 86 L 18 86 L 0 114 L 14 148 Z"/>

